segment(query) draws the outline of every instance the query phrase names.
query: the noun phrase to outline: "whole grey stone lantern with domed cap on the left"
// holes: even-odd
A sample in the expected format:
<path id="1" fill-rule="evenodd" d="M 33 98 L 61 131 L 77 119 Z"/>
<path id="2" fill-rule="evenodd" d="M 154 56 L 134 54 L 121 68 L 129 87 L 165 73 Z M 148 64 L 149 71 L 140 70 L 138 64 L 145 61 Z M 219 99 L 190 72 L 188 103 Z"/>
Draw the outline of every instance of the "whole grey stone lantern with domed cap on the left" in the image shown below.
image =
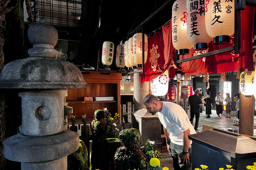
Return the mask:
<path id="1" fill-rule="evenodd" d="M 6 64 L 0 88 L 21 89 L 22 125 L 4 141 L 7 159 L 21 169 L 67 169 L 67 156 L 79 148 L 79 134 L 64 121 L 67 89 L 87 87 L 79 69 L 57 60 L 57 30 L 41 20 L 30 25 L 29 58 Z"/>

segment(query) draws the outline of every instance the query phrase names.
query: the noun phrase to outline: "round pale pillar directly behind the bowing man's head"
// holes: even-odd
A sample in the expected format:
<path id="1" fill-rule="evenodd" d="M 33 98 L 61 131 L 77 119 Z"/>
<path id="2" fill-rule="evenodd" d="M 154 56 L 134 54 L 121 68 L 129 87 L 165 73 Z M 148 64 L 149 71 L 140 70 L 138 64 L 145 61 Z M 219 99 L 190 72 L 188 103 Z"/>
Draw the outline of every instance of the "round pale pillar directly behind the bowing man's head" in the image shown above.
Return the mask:
<path id="1" fill-rule="evenodd" d="M 137 71 L 136 69 L 135 71 Z M 149 82 L 140 83 L 140 72 L 134 73 L 134 112 L 145 108 L 142 100 L 149 94 Z"/>

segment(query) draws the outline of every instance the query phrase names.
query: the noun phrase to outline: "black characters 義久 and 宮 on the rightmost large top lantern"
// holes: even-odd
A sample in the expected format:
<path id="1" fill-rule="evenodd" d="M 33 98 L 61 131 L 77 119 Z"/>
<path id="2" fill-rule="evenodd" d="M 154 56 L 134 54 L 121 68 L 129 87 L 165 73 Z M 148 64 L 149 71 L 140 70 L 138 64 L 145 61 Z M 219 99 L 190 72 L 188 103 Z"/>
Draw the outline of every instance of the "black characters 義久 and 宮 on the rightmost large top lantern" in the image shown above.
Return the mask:
<path id="1" fill-rule="evenodd" d="M 212 25 L 215 24 L 216 22 L 218 23 L 223 23 L 223 21 L 221 21 L 221 15 L 219 15 L 222 12 L 226 12 L 228 14 L 230 14 L 231 8 L 233 8 L 230 5 L 221 5 L 221 1 L 225 1 L 225 3 L 229 3 L 229 2 L 233 2 L 233 0 L 219 0 L 219 1 L 215 1 L 213 2 L 213 9 L 212 9 L 212 13 L 215 14 L 213 20 L 212 20 Z"/>

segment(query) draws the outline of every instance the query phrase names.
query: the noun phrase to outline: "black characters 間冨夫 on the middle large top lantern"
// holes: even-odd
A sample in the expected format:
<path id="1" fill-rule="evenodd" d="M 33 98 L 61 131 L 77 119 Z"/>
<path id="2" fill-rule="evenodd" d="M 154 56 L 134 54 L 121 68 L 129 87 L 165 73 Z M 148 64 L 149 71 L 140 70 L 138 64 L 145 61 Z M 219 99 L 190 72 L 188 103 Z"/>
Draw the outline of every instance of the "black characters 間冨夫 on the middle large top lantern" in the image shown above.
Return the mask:
<path id="1" fill-rule="evenodd" d="M 204 0 L 198 0 L 198 1 L 193 1 L 193 0 L 189 0 L 191 1 L 190 3 L 190 20 L 191 20 L 191 24 L 190 24 L 190 37 L 192 37 L 193 35 L 199 36 L 200 34 L 198 33 L 197 30 L 197 15 L 204 15 L 205 11 L 204 11 Z"/>

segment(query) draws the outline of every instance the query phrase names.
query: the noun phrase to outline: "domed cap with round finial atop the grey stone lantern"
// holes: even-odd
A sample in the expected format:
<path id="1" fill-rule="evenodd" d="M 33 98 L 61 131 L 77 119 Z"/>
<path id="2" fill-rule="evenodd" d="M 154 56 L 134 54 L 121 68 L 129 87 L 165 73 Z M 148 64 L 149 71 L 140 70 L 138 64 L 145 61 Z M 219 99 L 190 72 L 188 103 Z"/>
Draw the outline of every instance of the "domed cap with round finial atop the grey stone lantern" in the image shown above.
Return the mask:
<path id="1" fill-rule="evenodd" d="M 29 58 L 6 64 L 0 74 L 0 88 L 18 89 L 83 89 L 87 87 L 81 71 L 66 61 L 58 60 L 54 46 L 58 31 L 50 24 L 30 25 L 28 38 L 33 48 Z"/>

